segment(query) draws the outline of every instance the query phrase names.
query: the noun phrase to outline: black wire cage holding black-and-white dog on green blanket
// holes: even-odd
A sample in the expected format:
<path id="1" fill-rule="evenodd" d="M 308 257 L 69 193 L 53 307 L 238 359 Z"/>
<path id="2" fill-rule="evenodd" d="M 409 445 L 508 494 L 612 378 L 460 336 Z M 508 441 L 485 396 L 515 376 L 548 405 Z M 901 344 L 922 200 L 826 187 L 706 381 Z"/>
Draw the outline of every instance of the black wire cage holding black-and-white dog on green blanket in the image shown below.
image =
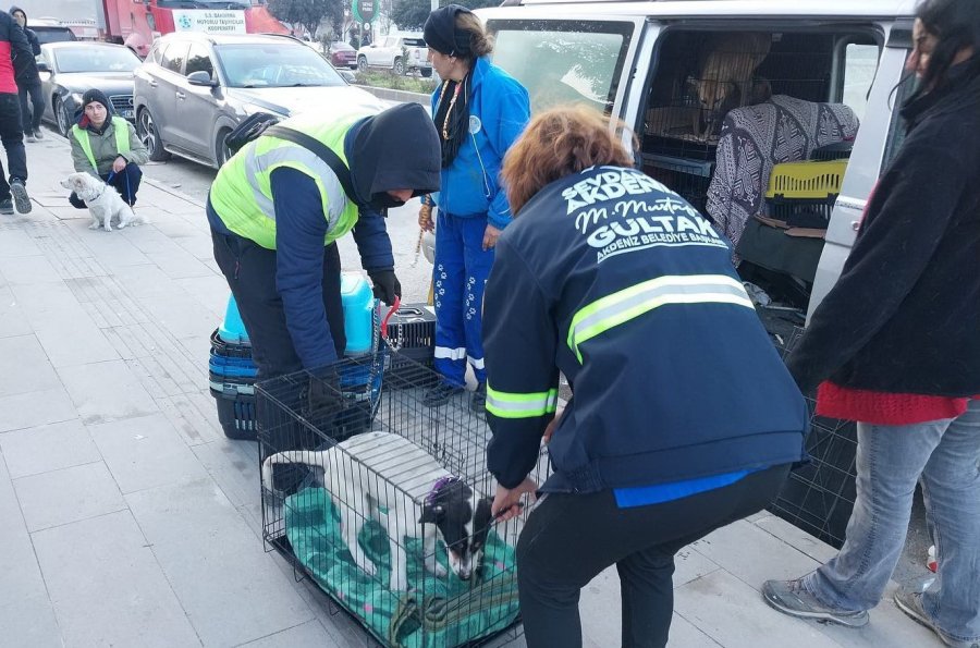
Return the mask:
<path id="1" fill-rule="evenodd" d="M 467 394 L 426 407 L 433 372 L 395 359 L 376 407 L 333 390 L 338 405 L 310 417 L 305 400 L 320 378 L 257 386 L 264 538 L 382 646 L 516 637 L 515 547 L 528 510 L 492 518 L 485 419 Z M 371 376 L 377 362 L 345 358 L 339 371 Z M 350 431 L 352 411 L 363 429 L 341 441 L 332 433 Z M 539 482 L 547 472 L 542 451 Z"/>

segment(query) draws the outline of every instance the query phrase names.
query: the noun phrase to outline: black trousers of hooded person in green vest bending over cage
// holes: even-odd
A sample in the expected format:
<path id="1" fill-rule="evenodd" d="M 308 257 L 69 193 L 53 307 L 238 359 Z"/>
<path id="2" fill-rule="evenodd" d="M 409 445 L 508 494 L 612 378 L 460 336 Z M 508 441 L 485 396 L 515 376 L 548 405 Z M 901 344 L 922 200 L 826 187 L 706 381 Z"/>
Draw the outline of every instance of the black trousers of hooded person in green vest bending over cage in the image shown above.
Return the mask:
<path id="1" fill-rule="evenodd" d="M 238 313 L 252 341 L 259 379 L 292 374 L 303 368 L 286 327 L 282 297 L 275 289 L 275 252 L 235 234 L 211 231 L 215 260 L 228 279 Z M 323 307 L 338 357 L 343 357 L 344 305 L 340 292 L 340 252 L 332 243 L 324 250 Z"/>

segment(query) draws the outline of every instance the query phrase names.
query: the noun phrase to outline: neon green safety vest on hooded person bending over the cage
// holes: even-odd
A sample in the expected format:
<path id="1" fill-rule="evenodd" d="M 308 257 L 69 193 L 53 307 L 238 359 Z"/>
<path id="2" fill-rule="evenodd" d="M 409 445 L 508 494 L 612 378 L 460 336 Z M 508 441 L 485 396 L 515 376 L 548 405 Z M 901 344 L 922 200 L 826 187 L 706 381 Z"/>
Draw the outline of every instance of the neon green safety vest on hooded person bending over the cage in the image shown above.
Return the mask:
<path id="1" fill-rule="evenodd" d="M 357 121 L 375 114 L 370 109 L 334 109 L 297 115 L 282 122 L 329 147 L 346 164 L 344 137 Z M 221 222 L 235 234 L 266 249 L 275 249 L 275 208 L 272 204 L 272 171 L 280 167 L 309 175 L 320 189 L 327 219 L 327 245 L 351 231 L 357 222 L 357 205 L 347 199 L 333 170 L 304 146 L 261 135 L 242 147 L 218 171 L 211 185 L 211 206 Z"/>

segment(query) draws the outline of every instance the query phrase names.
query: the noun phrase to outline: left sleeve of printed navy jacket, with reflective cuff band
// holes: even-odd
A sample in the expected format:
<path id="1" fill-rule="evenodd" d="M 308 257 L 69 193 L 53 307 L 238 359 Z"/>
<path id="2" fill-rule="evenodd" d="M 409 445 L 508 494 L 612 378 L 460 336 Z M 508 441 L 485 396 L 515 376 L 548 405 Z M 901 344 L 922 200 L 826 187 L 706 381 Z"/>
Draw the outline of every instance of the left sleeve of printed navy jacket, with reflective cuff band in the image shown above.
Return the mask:
<path id="1" fill-rule="evenodd" d="M 554 418 L 558 328 L 544 291 L 506 236 L 497 245 L 482 323 L 487 423 L 493 432 L 487 467 L 501 486 L 514 488 L 537 464 L 541 436 Z"/>

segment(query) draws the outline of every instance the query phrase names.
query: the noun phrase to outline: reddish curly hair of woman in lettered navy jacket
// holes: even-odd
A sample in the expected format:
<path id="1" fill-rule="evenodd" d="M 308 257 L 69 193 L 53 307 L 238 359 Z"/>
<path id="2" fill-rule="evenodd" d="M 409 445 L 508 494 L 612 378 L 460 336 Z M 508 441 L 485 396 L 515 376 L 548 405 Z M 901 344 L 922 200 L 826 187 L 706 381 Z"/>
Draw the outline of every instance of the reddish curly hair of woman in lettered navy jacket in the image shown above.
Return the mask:
<path id="1" fill-rule="evenodd" d="M 633 167 L 609 118 L 585 106 L 552 108 L 534 118 L 504 157 L 501 178 L 515 218 L 544 185 L 599 166 Z M 636 137 L 634 146 L 636 146 Z"/>

